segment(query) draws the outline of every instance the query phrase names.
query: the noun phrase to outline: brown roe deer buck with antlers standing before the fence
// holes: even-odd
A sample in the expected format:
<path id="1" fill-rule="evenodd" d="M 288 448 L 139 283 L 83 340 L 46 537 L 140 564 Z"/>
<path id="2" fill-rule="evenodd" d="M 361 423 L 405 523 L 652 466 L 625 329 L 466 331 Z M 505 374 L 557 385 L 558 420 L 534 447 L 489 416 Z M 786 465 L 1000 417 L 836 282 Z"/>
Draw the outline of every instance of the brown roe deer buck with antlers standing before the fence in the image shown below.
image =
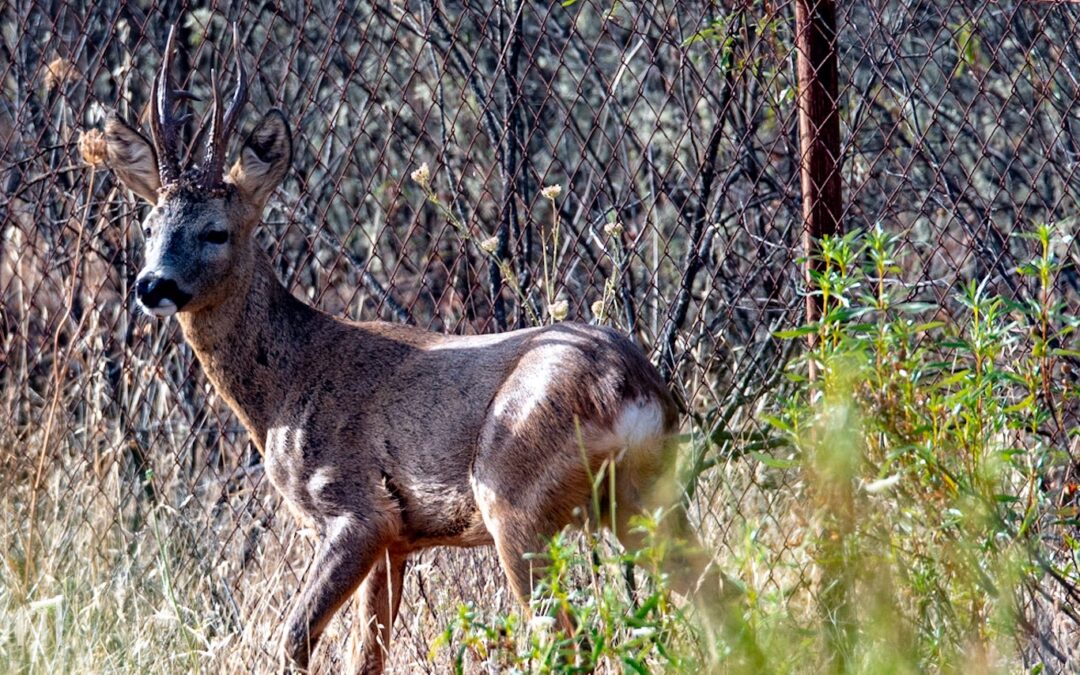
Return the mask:
<path id="1" fill-rule="evenodd" d="M 150 138 L 111 113 L 107 162 L 150 205 L 138 306 L 175 315 L 269 482 L 319 532 L 282 630 L 283 671 L 308 669 L 327 622 L 359 590 L 353 665 L 380 673 L 406 563 L 421 550 L 494 544 L 527 611 L 544 573 L 529 554 L 542 555 L 564 527 L 608 527 L 626 549 L 640 548 L 631 518 L 658 503 L 678 427 L 675 401 L 640 348 L 612 328 L 569 322 L 475 336 L 353 322 L 294 297 L 253 237 L 293 160 L 288 121 L 268 109 L 226 172 L 248 91 L 233 26 L 234 93 L 222 111 L 212 71 L 208 131 L 181 161 L 188 116 L 179 108 L 193 96 L 173 82 L 175 32 L 153 79 Z M 605 470 L 613 478 L 596 482 Z M 582 514 L 596 483 L 602 512 L 590 524 Z M 665 517 L 693 540 L 684 510 Z M 674 590 L 718 585 L 707 582 L 712 559 L 700 544 L 678 555 Z"/>

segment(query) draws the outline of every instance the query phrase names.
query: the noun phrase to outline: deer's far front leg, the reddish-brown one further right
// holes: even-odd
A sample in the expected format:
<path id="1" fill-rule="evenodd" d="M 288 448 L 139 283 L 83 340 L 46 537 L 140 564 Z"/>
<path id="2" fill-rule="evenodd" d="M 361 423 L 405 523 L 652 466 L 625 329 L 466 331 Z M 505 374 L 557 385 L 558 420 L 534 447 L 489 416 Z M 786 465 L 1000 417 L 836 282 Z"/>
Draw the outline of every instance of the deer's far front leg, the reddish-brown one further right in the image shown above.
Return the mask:
<path id="1" fill-rule="evenodd" d="M 381 673 L 390 649 L 394 618 L 401 606 L 406 556 L 383 551 L 361 586 L 361 611 L 353 624 L 353 667 L 364 675 Z"/>

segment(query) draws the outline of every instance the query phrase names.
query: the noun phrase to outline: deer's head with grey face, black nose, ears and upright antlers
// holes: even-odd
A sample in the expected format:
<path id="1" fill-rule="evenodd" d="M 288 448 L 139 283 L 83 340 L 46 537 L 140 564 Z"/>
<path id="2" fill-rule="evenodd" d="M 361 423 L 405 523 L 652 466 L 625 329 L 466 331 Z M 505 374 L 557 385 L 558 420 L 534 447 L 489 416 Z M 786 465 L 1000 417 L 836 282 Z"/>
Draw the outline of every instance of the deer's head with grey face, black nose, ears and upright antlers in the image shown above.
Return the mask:
<path id="1" fill-rule="evenodd" d="M 222 112 L 217 73 L 211 71 L 208 131 L 204 121 L 186 156 L 179 146 L 188 116 L 179 116 L 177 108 L 180 100 L 193 97 L 173 86 L 175 26 L 153 82 L 152 144 L 116 113 L 106 122 L 109 166 L 124 186 L 153 205 L 143 221 L 146 254 L 135 284 L 139 305 L 153 315 L 199 311 L 243 293 L 251 278 L 252 231 L 293 159 L 288 122 L 280 110 L 270 109 L 225 174 L 229 137 L 247 99 L 235 26 L 232 40 L 235 92 Z M 193 159 L 200 145 L 201 157 Z"/>

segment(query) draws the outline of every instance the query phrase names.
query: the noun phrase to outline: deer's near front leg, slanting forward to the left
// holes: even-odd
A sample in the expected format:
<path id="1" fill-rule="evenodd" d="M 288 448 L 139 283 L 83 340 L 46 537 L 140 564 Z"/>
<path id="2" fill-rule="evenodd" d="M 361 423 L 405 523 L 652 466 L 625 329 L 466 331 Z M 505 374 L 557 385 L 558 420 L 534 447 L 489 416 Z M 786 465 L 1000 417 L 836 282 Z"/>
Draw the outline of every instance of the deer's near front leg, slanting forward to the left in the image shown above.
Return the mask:
<path id="1" fill-rule="evenodd" d="M 378 562 L 383 546 L 382 532 L 370 521 L 352 515 L 327 521 L 312 579 L 301 592 L 285 629 L 282 658 L 286 672 L 307 670 L 319 636 Z"/>

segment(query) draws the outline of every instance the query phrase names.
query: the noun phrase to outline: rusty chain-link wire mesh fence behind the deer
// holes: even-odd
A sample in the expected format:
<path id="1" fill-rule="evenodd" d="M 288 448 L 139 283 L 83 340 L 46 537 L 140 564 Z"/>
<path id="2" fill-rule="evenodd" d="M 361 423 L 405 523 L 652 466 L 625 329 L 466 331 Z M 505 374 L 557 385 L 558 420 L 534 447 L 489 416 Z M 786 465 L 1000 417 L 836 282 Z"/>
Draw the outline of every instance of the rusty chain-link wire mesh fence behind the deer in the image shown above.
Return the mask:
<path id="1" fill-rule="evenodd" d="M 970 279 L 1029 297 L 1012 272 L 1034 244 L 1015 234 L 1057 222 L 1055 292 L 1076 314 L 1080 11 L 839 12 L 845 229 L 900 235 L 912 297 L 948 308 Z M 254 72 L 241 126 L 270 107 L 293 125 L 294 170 L 257 237 L 295 294 L 458 334 L 565 300 L 568 319 L 632 334 L 687 430 L 725 430 L 693 495 L 720 557 L 760 530 L 765 583 L 811 583 L 789 508 L 802 486 L 745 450 L 768 448 L 759 411 L 794 347 L 774 333 L 805 312 L 791 3 L 9 0 L 0 501 L 8 575 L 27 583 L 6 593 L 37 598 L 44 549 L 53 570 L 107 580 L 110 621 L 198 624 L 208 637 L 177 640 L 199 663 L 264 670 L 307 572 L 311 539 L 175 323 L 136 309 L 146 206 L 77 148 L 110 109 L 145 120 L 174 22 L 181 86 L 205 99 L 212 67 L 232 77 L 235 22 Z M 453 218 L 409 179 L 422 164 Z M 433 635 L 457 603 L 510 598 L 489 552 L 429 552 L 414 569 L 391 665 L 437 672 Z M 160 610 L 125 613 L 140 595 Z"/>

